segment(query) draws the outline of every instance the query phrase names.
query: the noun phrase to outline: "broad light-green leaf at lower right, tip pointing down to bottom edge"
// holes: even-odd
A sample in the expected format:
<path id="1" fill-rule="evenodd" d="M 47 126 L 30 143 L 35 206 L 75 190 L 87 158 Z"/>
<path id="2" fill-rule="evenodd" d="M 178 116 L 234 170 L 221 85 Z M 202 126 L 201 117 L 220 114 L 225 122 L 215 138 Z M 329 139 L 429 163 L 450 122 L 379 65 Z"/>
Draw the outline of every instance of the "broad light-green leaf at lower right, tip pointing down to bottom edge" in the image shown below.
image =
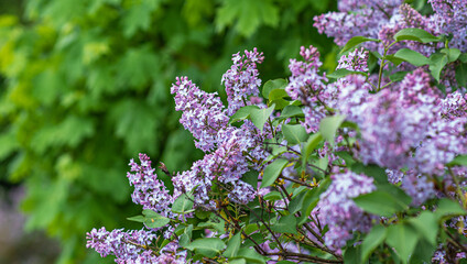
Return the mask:
<path id="1" fill-rule="evenodd" d="M 415 230 L 409 224 L 398 223 L 388 228 L 385 242 L 395 249 L 402 263 L 409 262 L 417 241 L 419 237 Z"/>

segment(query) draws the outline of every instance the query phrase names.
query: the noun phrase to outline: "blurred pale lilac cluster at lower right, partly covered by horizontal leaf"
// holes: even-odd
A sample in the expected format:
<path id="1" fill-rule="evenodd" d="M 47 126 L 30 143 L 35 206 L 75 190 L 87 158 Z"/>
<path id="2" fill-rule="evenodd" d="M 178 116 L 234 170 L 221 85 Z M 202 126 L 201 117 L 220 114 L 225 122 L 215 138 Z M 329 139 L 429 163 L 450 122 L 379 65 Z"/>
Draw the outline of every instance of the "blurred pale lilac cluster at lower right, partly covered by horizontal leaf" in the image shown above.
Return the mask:
<path id="1" fill-rule="evenodd" d="M 323 226 L 329 228 L 324 239 L 326 245 L 340 249 L 351 239 L 354 232 L 368 232 L 371 216 L 363 212 L 351 198 L 376 190 L 373 178 L 352 172 L 330 176 L 333 183 L 321 195 L 312 215 L 317 216 Z"/>

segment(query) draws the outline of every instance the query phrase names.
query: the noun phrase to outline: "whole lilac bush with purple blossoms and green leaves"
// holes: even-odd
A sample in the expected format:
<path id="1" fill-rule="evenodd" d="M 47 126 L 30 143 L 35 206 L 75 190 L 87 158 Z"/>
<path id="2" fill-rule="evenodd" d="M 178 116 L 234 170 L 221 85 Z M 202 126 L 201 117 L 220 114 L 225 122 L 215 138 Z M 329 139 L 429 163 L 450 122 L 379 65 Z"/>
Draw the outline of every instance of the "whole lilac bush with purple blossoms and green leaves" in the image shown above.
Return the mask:
<path id="1" fill-rule="evenodd" d="M 302 47 L 289 78 L 262 85 L 263 54 L 235 54 L 226 106 L 177 78 L 175 110 L 204 157 L 162 164 L 171 187 L 145 154 L 131 160 L 143 211 L 129 220 L 143 228 L 94 229 L 87 248 L 117 263 L 465 258 L 467 1 L 430 3 L 347 0 L 316 16 L 343 46 L 330 74 Z"/>

